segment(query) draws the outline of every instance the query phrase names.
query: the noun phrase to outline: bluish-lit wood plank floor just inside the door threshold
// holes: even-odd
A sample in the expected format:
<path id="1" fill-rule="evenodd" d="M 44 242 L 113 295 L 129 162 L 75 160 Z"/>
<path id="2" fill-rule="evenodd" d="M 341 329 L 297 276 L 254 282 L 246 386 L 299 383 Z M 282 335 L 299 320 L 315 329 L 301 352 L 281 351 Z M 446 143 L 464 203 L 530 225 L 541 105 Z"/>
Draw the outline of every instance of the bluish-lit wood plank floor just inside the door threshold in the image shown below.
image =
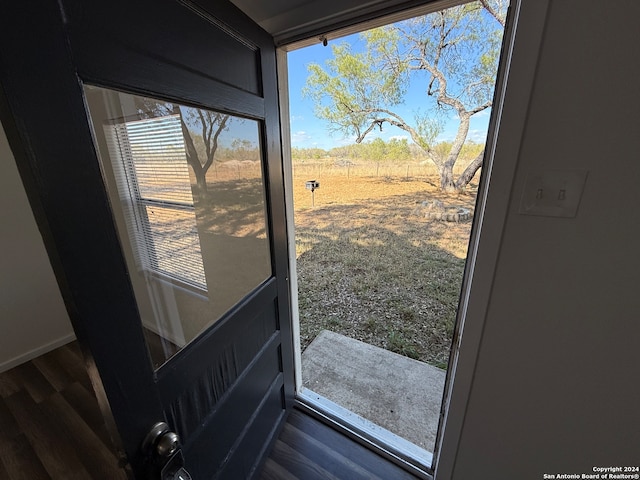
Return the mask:
<path id="1" fill-rule="evenodd" d="M 415 480 L 322 422 L 293 410 L 259 480 Z"/>

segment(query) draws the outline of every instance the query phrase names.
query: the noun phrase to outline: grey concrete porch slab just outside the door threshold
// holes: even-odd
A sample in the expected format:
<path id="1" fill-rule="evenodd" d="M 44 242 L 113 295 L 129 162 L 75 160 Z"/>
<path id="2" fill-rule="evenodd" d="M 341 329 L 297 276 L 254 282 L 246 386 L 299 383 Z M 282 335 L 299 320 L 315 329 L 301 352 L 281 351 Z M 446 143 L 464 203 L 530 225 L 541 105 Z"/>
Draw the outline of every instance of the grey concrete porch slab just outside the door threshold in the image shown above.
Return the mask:
<path id="1" fill-rule="evenodd" d="M 304 387 L 433 452 L 446 372 L 323 330 L 302 354 Z"/>

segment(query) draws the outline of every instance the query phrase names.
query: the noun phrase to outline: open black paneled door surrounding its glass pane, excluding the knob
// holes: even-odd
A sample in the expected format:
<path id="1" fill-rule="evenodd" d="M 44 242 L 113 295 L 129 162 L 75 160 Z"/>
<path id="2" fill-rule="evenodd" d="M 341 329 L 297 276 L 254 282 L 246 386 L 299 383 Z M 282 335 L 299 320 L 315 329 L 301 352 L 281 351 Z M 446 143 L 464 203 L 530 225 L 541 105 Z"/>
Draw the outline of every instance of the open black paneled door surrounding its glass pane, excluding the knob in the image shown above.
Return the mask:
<path id="1" fill-rule="evenodd" d="M 140 447 L 158 421 L 181 436 L 193 478 L 246 478 L 293 400 L 273 41 L 226 2 L 131 3 L 3 7 L 2 122 L 101 406 L 136 478 L 149 472 L 151 459 Z M 85 85 L 258 125 L 265 278 L 212 314 L 202 333 L 158 368 L 102 177 Z"/>

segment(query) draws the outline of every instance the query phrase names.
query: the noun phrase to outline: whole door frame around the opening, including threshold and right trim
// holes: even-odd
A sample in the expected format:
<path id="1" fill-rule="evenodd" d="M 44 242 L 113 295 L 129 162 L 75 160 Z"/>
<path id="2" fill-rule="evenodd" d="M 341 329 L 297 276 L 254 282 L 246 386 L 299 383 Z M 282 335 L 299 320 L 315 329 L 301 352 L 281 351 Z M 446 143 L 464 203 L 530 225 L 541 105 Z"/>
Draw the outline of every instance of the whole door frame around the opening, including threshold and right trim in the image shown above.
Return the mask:
<path id="1" fill-rule="evenodd" d="M 472 1 L 472 0 L 469 0 Z M 300 317 L 298 311 L 297 270 L 295 250 L 295 225 L 293 209 L 293 179 L 291 159 L 291 129 L 289 123 L 287 51 L 313 43 L 322 38 L 339 38 L 361 32 L 386 23 L 451 6 L 446 0 L 425 7 L 409 8 L 395 12 L 394 16 L 365 19 L 357 25 L 335 30 L 314 32 L 312 37 L 296 38 L 293 44 L 278 48 L 278 72 L 280 114 L 282 117 L 283 157 L 286 177 L 286 208 L 289 228 L 289 259 L 291 274 L 291 307 L 294 333 L 294 368 L 296 376 L 296 400 L 308 411 L 320 415 L 343 433 L 376 449 L 380 454 L 403 464 L 423 478 L 453 478 L 454 466 L 462 437 L 467 405 L 471 398 L 476 362 L 484 333 L 486 312 L 491 300 L 493 278 L 500 254 L 501 240 L 511 204 L 511 188 L 523 141 L 529 99 L 533 92 L 537 58 L 542 44 L 549 0 L 512 0 L 502 53 L 496 77 L 494 107 L 491 112 L 484 165 L 481 171 L 478 197 L 460 294 L 456 328 L 451 347 L 449 366 L 443 392 L 440 425 L 433 452 L 432 465 L 424 468 L 411 455 L 397 452 L 394 446 L 385 445 L 384 438 L 377 438 L 372 431 L 359 428 L 345 416 L 327 412 L 320 403 L 310 403 L 308 397 L 300 398 L 302 387 Z M 465 3 L 464 1 L 456 3 Z M 524 20 L 522 20 L 524 19 Z M 320 36 L 318 36 L 320 33 Z M 535 59 L 535 60 L 531 60 Z M 507 118 L 508 121 L 503 121 Z M 400 455 L 398 455 L 400 453 Z"/>

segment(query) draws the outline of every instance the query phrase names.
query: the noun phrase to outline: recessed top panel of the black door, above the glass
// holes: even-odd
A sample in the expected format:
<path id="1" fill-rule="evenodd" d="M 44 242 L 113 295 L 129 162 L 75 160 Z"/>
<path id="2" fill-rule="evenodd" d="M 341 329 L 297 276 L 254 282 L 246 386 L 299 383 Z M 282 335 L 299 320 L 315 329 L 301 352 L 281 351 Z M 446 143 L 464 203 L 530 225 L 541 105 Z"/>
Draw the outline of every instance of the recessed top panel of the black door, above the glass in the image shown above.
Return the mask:
<path id="1" fill-rule="evenodd" d="M 89 7 L 67 0 L 64 13 L 72 43 L 82 41 L 74 53 L 85 79 L 122 80 L 118 72 L 133 70 L 132 79 L 139 81 L 132 87 L 139 89 L 155 81 L 154 72 L 169 68 L 178 81 L 195 74 L 262 97 L 260 48 L 272 41 L 226 5 L 116 0 Z"/>

